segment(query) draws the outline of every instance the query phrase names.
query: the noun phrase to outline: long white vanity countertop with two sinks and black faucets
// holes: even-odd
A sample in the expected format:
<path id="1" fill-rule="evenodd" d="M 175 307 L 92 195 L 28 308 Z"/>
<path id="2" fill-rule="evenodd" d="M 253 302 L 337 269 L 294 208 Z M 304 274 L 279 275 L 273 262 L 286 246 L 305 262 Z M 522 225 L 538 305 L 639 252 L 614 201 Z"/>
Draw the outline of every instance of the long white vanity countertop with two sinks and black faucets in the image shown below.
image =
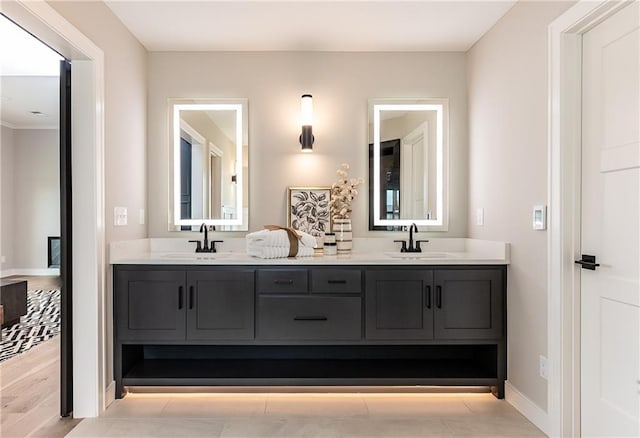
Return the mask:
<path id="1" fill-rule="evenodd" d="M 216 237 L 217 239 L 217 237 Z M 187 239 L 139 239 L 112 242 L 113 265 L 507 265 L 509 244 L 464 238 L 433 238 L 422 253 L 401 253 L 388 238 L 356 238 L 348 256 L 261 259 L 244 251 L 244 238 L 221 239 L 217 253 L 195 253 Z"/>

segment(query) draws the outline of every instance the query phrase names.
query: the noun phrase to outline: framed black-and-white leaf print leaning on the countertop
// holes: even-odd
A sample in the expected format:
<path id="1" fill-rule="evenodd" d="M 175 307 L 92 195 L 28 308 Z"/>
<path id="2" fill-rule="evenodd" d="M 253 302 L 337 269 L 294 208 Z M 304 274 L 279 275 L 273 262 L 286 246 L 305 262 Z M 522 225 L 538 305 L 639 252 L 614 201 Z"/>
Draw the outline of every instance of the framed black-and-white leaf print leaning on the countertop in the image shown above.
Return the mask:
<path id="1" fill-rule="evenodd" d="M 287 227 L 324 236 L 331 231 L 331 187 L 288 187 Z"/>

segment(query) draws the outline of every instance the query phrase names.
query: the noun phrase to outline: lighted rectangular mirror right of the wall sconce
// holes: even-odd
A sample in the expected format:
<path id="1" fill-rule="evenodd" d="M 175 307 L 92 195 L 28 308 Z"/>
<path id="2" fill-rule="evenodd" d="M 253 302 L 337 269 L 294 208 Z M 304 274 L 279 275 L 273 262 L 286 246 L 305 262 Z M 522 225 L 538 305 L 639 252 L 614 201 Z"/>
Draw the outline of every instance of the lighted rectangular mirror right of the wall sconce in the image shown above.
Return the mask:
<path id="1" fill-rule="evenodd" d="M 369 101 L 369 228 L 447 231 L 448 100 Z"/>

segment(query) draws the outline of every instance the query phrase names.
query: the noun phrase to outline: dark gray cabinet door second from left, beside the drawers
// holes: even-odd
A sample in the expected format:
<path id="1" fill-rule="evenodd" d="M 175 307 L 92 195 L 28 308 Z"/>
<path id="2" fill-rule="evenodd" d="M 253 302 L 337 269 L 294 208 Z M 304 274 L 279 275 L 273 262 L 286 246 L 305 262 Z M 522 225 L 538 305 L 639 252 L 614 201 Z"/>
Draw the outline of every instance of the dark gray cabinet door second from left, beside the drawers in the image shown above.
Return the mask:
<path id="1" fill-rule="evenodd" d="M 253 339 L 253 271 L 191 271 L 187 283 L 188 339 Z"/>

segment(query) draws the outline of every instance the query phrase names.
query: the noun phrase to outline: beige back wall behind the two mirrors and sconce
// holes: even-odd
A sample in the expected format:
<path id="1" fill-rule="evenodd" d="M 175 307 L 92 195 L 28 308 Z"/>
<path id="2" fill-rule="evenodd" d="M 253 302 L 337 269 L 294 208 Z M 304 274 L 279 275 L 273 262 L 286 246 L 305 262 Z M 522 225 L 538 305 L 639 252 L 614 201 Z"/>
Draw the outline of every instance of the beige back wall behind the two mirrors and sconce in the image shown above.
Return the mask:
<path id="1" fill-rule="evenodd" d="M 168 99 L 249 99 L 249 230 L 286 222 L 287 186 L 331 185 L 340 163 L 368 184 L 367 100 L 448 97 L 449 235 L 467 234 L 467 91 L 464 53 L 150 53 L 149 236 L 167 231 Z M 300 152 L 300 96 L 314 96 L 314 151 Z M 368 186 L 354 204 L 355 236 L 368 231 Z"/>

